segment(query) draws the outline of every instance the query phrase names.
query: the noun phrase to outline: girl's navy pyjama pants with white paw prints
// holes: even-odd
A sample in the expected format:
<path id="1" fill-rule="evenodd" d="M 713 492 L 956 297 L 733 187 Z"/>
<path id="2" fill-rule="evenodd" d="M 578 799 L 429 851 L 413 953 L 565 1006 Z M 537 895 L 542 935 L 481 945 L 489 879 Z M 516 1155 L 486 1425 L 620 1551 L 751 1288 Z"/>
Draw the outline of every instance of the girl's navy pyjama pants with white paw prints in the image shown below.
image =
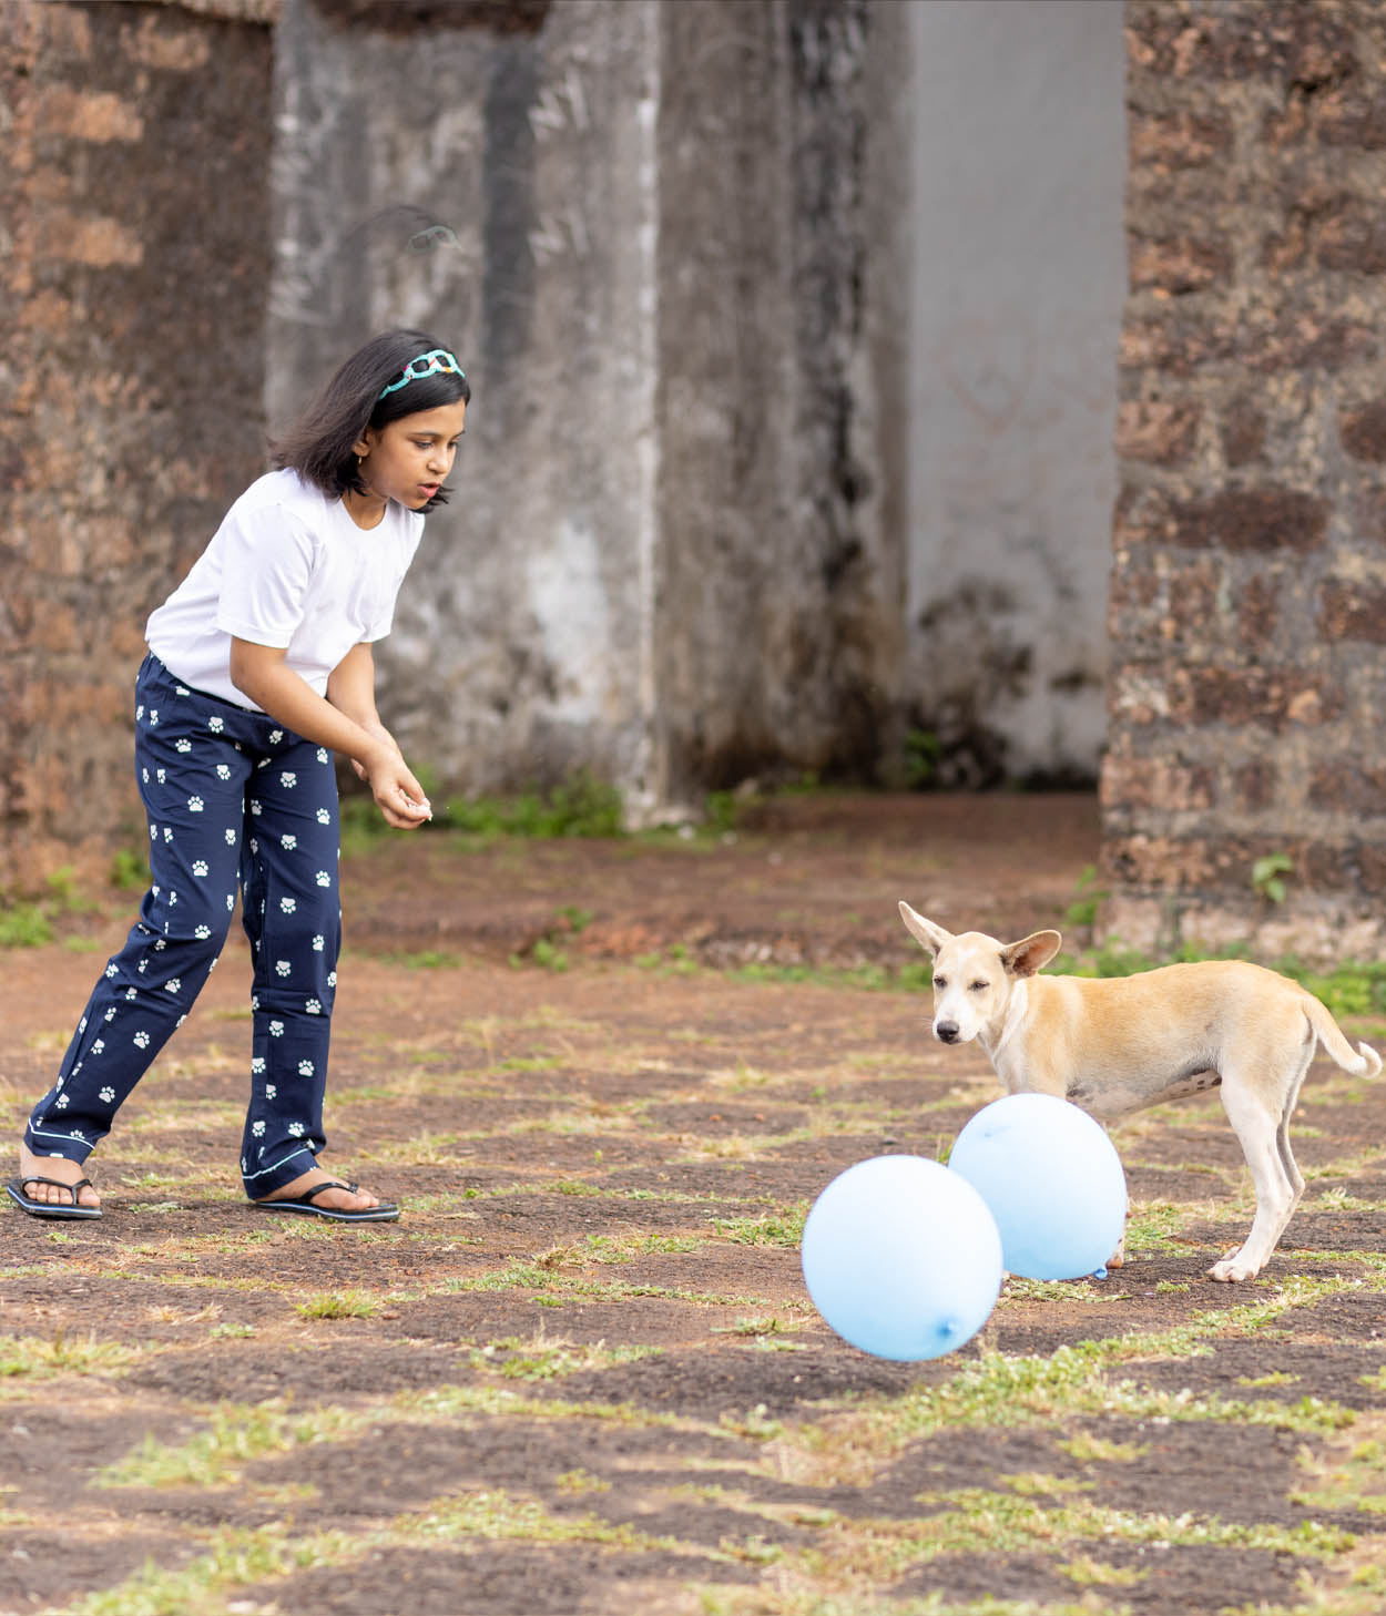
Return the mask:
<path id="1" fill-rule="evenodd" d="M 239 886 L 254 963 L 241 1176 L 260 1197 L 311 1168 L 323 1146 L 341 942 L 332 753 L 264 713 L 191 690 L 155 656 L 139 669 L 136 701 L 152 884 L 24 1143 L 84 1162 L 105 1138 L 217 963 Z"/>

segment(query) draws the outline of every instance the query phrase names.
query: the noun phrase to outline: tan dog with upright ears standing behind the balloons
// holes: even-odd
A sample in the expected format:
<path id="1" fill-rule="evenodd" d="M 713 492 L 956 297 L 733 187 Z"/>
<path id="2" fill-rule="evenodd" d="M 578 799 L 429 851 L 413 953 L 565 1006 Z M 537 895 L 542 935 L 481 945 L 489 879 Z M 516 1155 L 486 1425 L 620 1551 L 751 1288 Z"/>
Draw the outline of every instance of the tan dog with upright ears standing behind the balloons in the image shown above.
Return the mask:
<path id="1" fill-rule="evenodd" d="M 1106 1123 L 1221 1086 L 1257 1215 L 1245 1241 L 1208 1273 L 1253 1278 L 1304 1191 L 1289 1120 L 1315 1044 L 1359 1078 L 1381 1070 L 1376 1050 L 1359 1044 L 1354 1054 L 1313 994 L 1244 960 L 1106 979 L 1037 976 L 1059 952 L 1056 931 L 1019 942 L 980 931 L 954 937 L 909 903 L 899 911 L 933 955 L 933 1036 L 980 1039 L 1008 1094 L 1058 1094 Z"/>

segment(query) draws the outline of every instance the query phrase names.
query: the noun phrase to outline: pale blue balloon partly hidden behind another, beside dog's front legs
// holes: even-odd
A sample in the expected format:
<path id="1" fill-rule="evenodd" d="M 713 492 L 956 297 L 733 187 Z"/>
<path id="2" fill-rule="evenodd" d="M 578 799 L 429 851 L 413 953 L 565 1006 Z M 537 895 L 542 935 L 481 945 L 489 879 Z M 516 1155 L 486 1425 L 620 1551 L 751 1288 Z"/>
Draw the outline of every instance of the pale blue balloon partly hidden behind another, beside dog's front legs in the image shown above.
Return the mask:
<path id="1" fill-rule="evenodd" d="M 1008 1094 L 957 1134 L 948 1165 L 982 1196 L 1004 1264 L 1029 1280 L 1097 1273 L 1126 1227 L 1126 1173 L 1101 1123 L 1053 1094 Z"/>

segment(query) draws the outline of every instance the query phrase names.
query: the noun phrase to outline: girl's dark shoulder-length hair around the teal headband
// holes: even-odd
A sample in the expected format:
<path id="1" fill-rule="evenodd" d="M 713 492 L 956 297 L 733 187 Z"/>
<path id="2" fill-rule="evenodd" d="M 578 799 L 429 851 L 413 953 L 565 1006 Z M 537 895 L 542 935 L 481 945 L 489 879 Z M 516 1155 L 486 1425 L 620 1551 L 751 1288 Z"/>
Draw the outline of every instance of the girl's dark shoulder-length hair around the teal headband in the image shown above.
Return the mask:
<path id="1" fill-rule="evenodd" d="M 348 490 L 364 494 L 351 448 L 367 427 L 388 427 L 401 415 L 437 409 L 440 404 L 471 402 L 472 389 L 461 372 L 416 377 L 408 386 L 382 391 L 398 381 L 411 359 L 435 347 L 446 349 L 427 331 L 382 331 L 359 347 L 299 419 L 270 444 L 277 467 L 291 469 L 325 494 L 341 498 Z M 451 488 L 440 488 L 422 507 L 446 504 Z"/>

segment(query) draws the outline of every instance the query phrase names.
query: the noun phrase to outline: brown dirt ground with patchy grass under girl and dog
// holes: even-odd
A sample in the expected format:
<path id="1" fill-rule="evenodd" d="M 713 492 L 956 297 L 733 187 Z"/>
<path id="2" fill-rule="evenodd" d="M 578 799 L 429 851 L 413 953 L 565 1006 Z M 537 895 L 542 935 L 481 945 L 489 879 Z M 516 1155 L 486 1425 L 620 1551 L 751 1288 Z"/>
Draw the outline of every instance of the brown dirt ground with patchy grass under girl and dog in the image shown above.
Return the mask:
<path id="1" fill-rule="evenodd" d="M 1249 1285 L 1203 1277 L 1250 1220 L 1211 1099 L 1118 1133 L 1124 1269 L 1008 1280 L 948 1357 L 805 1294 L 825 1185 L 996 1094 L 891 984 L 896 900 L 1020 936 L 1095 858 L 1085 797 L 353 853 L 330 1159 L 404 1217 L 241 1201 L 233 937 L 92 1157 L 105 1217 L 0 1210 L 0 1613 L 1386 1608 L 1386 1086 L 1315 1067 Z M 0 955 L 11 1136 L 131 908 Z"/>

